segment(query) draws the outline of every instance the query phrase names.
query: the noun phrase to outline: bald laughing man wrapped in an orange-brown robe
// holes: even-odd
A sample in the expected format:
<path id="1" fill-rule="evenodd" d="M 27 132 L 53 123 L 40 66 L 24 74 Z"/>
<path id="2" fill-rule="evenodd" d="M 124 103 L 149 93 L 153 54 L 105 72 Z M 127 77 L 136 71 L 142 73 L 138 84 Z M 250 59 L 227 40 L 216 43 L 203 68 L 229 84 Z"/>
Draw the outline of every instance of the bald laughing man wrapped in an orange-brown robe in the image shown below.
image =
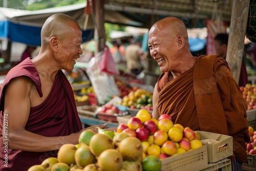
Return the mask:
<path id="1" fill-rule="evenodd" d="M 193 56 L 186 27 L 175 17 L 152 26 L 148 48 L 162 72 L 153 93 L 153 117 L 169 114 L 174 123 L 192 130 L 232 136 L 232 170 L 241 170 L 250 140 L 247 104 L 225 59 Z"/>

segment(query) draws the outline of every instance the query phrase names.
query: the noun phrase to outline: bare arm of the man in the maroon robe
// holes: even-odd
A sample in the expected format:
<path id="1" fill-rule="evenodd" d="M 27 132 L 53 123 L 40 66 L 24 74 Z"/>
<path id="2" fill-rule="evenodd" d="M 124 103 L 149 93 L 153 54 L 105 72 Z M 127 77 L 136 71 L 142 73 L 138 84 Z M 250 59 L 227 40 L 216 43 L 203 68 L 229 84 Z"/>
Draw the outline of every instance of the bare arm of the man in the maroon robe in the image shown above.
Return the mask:
<path id="1" fill-rule="evenodd" d="M 45 152 L 59 149 L 66 143 L 77 144 L 81 133 L 61 137 L 45 137 L 25 130 L 30 113 L 31 82 L 28 78 L 15 78 L 8 84 L 5 93 L 5 113 L 8 113 L 8 147 L 30 152 Z M 44 115 L 42 113 L 42 115 Z M 106 125 L 95 125 L 104 128 Z"/>

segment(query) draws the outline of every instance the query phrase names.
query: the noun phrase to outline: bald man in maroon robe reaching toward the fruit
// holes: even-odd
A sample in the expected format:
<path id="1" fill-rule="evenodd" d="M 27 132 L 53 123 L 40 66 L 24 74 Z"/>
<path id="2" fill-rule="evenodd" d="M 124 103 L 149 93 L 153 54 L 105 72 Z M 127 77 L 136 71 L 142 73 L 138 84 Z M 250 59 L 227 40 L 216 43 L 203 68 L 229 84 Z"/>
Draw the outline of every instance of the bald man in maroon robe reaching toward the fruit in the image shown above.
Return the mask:
<path id="1" fill-rule="evenodd" d="M 57 157 L 82 130 L 71 85 L 61 69 L 73 70 L 82 31 L 65 14 L 50 16 L 41 29 L 41 49 L 10 70 L 0 94 L 0 170 L 24 171 Z M 96 130 L 95 125 L 87 129 Z M 3 145 L 4 144 L 4 145 Z"/>

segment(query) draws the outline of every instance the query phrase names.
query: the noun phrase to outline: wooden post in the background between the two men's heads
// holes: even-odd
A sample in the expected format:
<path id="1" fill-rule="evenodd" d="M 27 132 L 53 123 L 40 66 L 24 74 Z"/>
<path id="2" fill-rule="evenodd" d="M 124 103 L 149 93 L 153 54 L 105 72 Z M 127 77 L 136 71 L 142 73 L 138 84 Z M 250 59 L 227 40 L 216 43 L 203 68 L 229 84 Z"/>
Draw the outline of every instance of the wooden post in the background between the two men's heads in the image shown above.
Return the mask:
<path id="1" fill-rule="evenodd" d="M 94 32 L 95 39 L 95 55 L 102 51 L 105 45 L 105 28 L 104 28 L 104 1 L 94 0 L 95 1 L 95 19 L 96 25 Z M 97 28 L 96 28 L 97 27 Z M 98 30 L 98 31 L 97 31 Z"/>

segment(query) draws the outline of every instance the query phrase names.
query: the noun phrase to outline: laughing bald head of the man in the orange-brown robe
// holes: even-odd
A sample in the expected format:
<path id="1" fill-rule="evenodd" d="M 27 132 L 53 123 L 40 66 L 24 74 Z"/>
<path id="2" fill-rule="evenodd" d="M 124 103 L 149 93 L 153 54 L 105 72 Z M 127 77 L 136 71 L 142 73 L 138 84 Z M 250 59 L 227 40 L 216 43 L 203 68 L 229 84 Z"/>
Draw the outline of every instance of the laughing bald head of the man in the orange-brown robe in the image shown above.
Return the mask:
<path id="1" fill-rule="evenodd" d="M 158 62 L 162 73 L 179 72 L 182 68 L 180 55 L 189 48 L 186 27 L 175 17 L 166 17 L 155 23 L 148 33 L 148 48 Z"/>

